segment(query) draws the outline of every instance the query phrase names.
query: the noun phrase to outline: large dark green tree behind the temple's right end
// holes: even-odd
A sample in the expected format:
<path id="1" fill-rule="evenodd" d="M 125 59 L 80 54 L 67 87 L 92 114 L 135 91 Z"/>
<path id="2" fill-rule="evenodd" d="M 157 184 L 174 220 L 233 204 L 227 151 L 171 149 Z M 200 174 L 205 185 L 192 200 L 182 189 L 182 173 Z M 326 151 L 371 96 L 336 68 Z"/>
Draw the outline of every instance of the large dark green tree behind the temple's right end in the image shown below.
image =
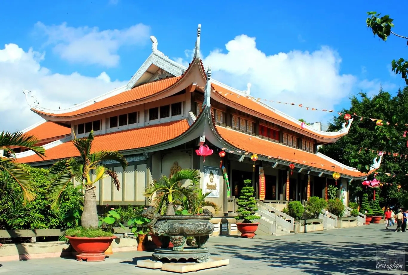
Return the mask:
<path id="1" fill-rule="evenodd" d="M 384 92 L 382 89 L 378 94 L 369 97 L 365 93 L 359 93 L 352 96 L 351 107 L 341 111 L 341 115 L 333 118 L 333 123 L 329 125 L 329 131 L 341 129 L 341 124 L 345 122 L 344 114 L 358 114 L 363 116 L 354 117 L 350 130 L 346 136 L 335 143 L 322 146 L 319 152 L 340 161 L 346 165 L 352 166 L 361 172 L 368 172 L 370 165 L 375 157 L 379 158 L 378 152 L 390 152 L 384 155 L 381 166 L 377 172 L 386 172 L 397 174 L 396 177 L 389 177 L 386 174 L 377 174 L 376 178 L 380 182 L 392 183 L 384 185 L 380 190 L 380 203 L 388 206 L 401 206 L 404 204 L 404 197 L 407 195 L 408 177 L 408 159 L 400 155 L 394 156 L 392 153 L 408 154 L 407 138 L 404 137 L 404 131 L 408 130 L 406 123 L 405 109 L 408 107 L 408 87 L 399 90 L 396 96 Z M 377 121 L 370 118 L 382 119 L 382 125 L 376 125 Z M 408 136 L 408 135 L 406 135 Z M 368 148 L 369 150 L 360 149 Z M 374 150 L 372 152 L 371 150 Z M 373 174 L 369 179 L 373 178 Z M 397 186 L 401 184 L 401 191 L 398 192 Z M 359 197 L 367 192 L 370 197 L 373 196 L 373 190 L 366 189 L 361 185 L 361 181 L 353 181 L 350 185 L 350 197 Z"/>

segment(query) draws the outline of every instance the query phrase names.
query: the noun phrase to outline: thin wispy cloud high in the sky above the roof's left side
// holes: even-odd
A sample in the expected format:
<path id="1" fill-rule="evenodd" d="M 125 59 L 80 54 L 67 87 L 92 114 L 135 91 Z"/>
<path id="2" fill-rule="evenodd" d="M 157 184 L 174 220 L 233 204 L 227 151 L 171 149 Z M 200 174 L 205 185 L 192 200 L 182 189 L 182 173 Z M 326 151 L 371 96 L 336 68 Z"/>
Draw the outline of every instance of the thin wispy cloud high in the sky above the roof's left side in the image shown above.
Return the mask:
<path id="1" fill-rule="evenodd" d="M 127 29 L 99 30 L 98 27 L 47 26 L 35 24 L 35 34 L 47 37 L 45 45 L 52 45 L 53 51 L 71 63 L 115 67 L 123 45 L 144 45 L 149 40 L 150 27 L 144 24 Z"/>

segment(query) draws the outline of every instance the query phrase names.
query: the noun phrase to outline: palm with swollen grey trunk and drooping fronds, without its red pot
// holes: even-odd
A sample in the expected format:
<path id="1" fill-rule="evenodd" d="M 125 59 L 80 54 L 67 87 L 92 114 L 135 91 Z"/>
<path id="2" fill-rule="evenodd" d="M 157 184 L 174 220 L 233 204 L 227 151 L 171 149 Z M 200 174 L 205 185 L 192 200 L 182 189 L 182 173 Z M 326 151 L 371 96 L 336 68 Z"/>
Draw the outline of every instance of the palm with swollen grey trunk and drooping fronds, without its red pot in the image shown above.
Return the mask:
<path id="1" fill-rule="evenodd" d="M 86 139 L 74 139 L 72 142 L 80 153 L 80 157 L 71 157 L 57 161 L 51 167 L 49 173 L 51 188 L 48 198 L 51 201 L 52 207 L 58 208 L 60 206 L 62 192 L 71 184 L 73 178 L 84 187 L 84 211 L 81 216 L 81 226 L 84 228 L 98 228 L 99 224 L 94 183 L 106 176 L 110 176 L 116 188 L 118 190 L 120 189 L 118 174 L 106 168 L 102 161 L 117 161 L 122 165 L 123 169 L 126 169 L 128 165 L 124 156 L 117 151 L 98 151 L 91 153 L 92 141 L 92 131 Z M 93 180 L 91 179 L 91 173 L 95 175 Z"/>

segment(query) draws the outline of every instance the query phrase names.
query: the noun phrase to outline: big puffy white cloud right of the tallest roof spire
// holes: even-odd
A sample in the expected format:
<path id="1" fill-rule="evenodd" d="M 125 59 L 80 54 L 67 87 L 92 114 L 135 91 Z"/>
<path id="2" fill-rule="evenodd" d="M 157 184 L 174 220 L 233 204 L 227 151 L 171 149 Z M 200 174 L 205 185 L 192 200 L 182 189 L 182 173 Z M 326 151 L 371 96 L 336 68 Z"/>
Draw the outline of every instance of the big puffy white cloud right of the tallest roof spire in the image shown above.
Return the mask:
<path id="1" fill-rule="evenodd" d="M 330 110 L 347 98 L 357 83 L 355 76 L 340 74 L 341 58 L 329 47 L 268 56 L 257 49 L 255 38 L 246 35 L 235 37 L 225 47 L 226 52 L 211 51 L 204 64 L 211 65 L 215 79 L 237 89 L 245 90 L 246 84 L 252 83 L 251 95 L 259 98 Z M 332 116 L 295 106 L 269 104 L 310 122 L 327 121 Z"/>

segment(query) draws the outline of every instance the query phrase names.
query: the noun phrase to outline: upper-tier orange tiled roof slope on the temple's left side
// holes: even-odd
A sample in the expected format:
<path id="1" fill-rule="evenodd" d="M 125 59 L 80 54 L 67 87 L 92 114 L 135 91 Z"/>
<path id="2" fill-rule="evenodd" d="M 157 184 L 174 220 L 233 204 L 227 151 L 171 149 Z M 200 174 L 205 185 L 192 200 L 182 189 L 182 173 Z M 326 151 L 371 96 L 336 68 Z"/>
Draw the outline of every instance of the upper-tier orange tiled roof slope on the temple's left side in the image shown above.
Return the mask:
<path id="1" fill-rule="evenodd" d="M 124 91 L 120 94 L 111 96 L 97 103 L 93 103 L 89 106 L 83 107 L 79 110 L 75 110 L 72 112 L 61 113 L 61 114 L 49 114 L 49 113 L 41 112 L 38 110 L 33 110 L 33 111 L 40 113 L 40 114 L 47 114 L 50 116 L 59 116 L 59 117 L 75 116 L 78 114 L 93 112 L 96 110 L 104 109 L 106 107 L 111 107 L 111 106 L 120 105 L 123 103 L 128 103 L 131 101 L 136 101 L 138 99 L 145 98 L 146 96 L 152 96 L 174 85 L 178 80 L 180 80 L 180 78 L 181 76 L 174 76 L 174 77 L 169 77 L 169 78 L 149 82 L 146 84 L 142 84 L 140 86 L 134 87 L 133 89 Z"/>

